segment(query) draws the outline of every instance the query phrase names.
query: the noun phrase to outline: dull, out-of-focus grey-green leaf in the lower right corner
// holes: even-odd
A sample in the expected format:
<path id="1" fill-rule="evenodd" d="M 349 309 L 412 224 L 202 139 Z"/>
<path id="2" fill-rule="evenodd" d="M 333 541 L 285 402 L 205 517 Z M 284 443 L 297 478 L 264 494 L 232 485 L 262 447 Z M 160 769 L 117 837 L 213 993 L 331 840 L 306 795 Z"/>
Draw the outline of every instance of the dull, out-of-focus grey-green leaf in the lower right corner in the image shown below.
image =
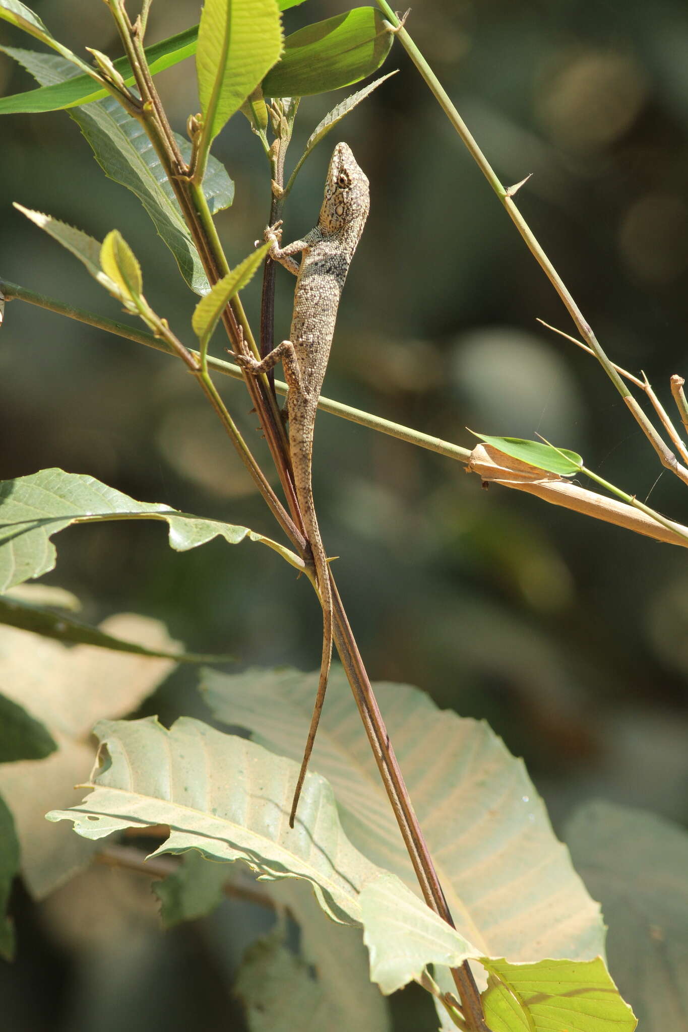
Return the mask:
<path id="1" fill-rule="evenodd" d="M 565 828 L 602 904 L 610 970 L 647 1032 L 688 1021 L 688 833 L 645 810 L 595 801 Z"/>

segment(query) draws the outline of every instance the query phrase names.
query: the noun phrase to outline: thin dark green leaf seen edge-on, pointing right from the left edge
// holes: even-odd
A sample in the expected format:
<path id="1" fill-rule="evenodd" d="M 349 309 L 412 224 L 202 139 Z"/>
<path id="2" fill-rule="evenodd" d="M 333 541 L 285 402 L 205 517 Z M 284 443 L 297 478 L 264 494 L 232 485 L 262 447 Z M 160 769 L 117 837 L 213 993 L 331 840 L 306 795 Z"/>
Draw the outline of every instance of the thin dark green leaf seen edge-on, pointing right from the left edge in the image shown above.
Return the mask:
<path id="1" fill-rule="evenodd" d="M 23 585 L 23 587 L 34 586 L 38 585 Z M 48 605 L 54 605 L 54 603 L 48 603 Z M 107 635 L 99 627 L 83 623 L 64 613 L 55 613 L 43 606 L 33 605 L 9 595 L 0 595 L 0 623 L 69 645 L 95 645 L 97 648 L 106 648 L 113 652 L 131 652 L 134 655 L 163 657 L 174 659 L 175 663 L 230 663 L 234 658 L 231 655 L 198 655 L 194 652 L 165 652 L 159 649 L 149 649 L 135 642 L 128 642 L 114 635 Z M 1 739 L 2 732 L 0 731 L 0 741 Z"/>

